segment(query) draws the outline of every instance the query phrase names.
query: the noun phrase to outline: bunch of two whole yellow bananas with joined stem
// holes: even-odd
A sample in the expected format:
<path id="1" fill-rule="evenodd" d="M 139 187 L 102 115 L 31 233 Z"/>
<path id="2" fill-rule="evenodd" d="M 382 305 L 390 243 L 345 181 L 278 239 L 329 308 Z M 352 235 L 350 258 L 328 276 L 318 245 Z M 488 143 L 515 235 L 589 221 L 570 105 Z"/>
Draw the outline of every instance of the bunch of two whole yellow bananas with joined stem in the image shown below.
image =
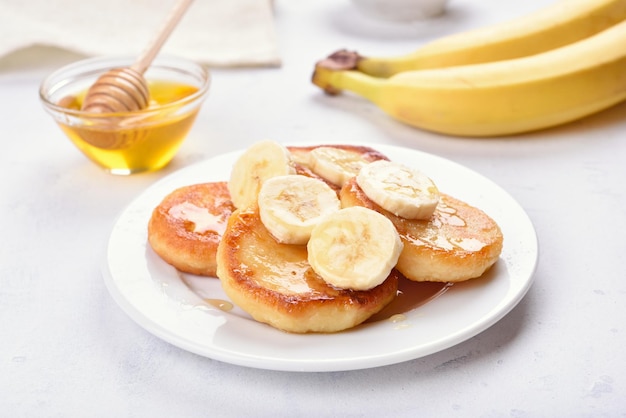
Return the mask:
<path id="1" fill-rule="evenodd" d="M 626 99 L 625 45 L 626 0 L 561 1 L 399 59 L 341 51 L 317 63 L 313 83 L 329 94 L 352 91 L 422 129 L 510 135 Z"/>

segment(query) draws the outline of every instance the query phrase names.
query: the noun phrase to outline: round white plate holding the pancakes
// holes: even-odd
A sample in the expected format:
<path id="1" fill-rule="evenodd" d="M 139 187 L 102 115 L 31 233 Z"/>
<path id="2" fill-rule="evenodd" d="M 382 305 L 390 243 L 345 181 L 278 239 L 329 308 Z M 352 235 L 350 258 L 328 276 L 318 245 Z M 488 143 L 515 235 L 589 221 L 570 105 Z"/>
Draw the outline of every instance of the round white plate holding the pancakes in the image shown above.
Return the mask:
<path id="1" fill-rule="evenodd" d="M 364 369 L 426 356 L 465 341 L 506 315 L 531 286 L 537 238 L 519 204 L 485 177 L 423 152 L 373 145 L 392 160 L 418 167 L 443 192 L 483 209 L 504 234 L 500 259 L 484 277 L 455 284 L 406 312 L 337 334 L 295 335 L 214 307 L 226 300 L 219 280 L 178 273 L 147 245 L 154 207 L 174 189 L 226 180 L 239 153 L 182 169 L 138 196 L 110 236 L 104 276 L 113 298 L 149 332 L 185 350 L 242 366 L 290 371 Z"/>

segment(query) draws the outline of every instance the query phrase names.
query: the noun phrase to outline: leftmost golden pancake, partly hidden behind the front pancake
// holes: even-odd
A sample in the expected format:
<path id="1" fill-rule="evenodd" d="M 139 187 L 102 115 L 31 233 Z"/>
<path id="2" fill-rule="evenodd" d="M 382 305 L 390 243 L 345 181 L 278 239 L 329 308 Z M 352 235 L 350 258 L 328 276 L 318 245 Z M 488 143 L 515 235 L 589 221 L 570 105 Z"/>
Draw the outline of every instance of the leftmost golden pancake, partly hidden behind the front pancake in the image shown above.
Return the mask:
<path id="1" fill-rule="evenodd" d="M 217 246 L 234 210 L 226 182 L 181 187 L 153 210 L 148 242 L 178 270 L 215 277 Z"/>

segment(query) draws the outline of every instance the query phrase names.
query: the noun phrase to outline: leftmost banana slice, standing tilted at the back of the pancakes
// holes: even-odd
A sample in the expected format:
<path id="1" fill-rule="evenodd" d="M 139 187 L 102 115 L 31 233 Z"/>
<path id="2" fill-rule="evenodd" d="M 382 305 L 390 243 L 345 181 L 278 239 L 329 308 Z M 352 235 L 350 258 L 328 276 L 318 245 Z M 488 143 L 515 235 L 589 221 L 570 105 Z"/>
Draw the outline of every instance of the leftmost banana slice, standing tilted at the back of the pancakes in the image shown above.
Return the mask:
<path id="1" fill-rule="evenodd" d="M 265 180 L 295 173 L 286 147 L 271 140 L 257 142 L 244 151 L 233 165 L 228 181 L 231 200 L 236 208 L 247 208 L 256 204 Z"/>

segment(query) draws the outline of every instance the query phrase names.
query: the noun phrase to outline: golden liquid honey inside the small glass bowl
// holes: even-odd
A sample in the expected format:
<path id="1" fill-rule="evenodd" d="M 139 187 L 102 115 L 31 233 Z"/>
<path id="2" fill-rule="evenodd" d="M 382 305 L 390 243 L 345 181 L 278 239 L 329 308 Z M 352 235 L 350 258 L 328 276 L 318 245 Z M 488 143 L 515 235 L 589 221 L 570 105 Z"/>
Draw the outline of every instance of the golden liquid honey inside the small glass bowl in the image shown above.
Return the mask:
<path id="1" fill-rule="evenodd" d="M 91 160 L 116 174 L 157 170 L 176 154 L 193 125 L 198 109 L 171 117 L 177 106 L 165 108 L 198 91 L 197 87 L 168 81 L 149 81 L 153 115 L 141 120 L 107 115 L 108 123 L 69 125 L 58 122 L 68 138 Z M 59 106 L 80 110 L 86 90 L 66 96 Z M 161 110 L 158 110 L 161 108 Z M 94 118 L 97 118 L 94 116 Z"/>

